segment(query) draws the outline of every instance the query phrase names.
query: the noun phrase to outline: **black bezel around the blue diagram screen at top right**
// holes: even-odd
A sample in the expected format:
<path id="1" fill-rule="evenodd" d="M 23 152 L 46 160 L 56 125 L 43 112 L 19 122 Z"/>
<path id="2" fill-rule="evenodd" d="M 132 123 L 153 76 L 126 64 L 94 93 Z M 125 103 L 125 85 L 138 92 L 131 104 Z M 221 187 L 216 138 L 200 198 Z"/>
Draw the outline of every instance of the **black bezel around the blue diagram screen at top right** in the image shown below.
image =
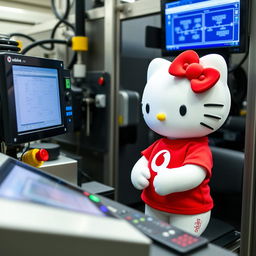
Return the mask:
<path id="1" fill-rule="evenodd" d="M 165 34 L 165 5 L 171 2 L 179 2 L 179 0 L 161 0 L 161 49 L 163 56 L 176 56 L 185 50 L 167 50 L 166 49 L 166 34 Z M 245 53 L 248 51 L 249 43 L 249 1 L 240 0 L 240 45 L 239 46 L 221 46 L 208 48 L 191 48 L 198 54 L 218 53 L 228 55 L 231 53 Z"/>

